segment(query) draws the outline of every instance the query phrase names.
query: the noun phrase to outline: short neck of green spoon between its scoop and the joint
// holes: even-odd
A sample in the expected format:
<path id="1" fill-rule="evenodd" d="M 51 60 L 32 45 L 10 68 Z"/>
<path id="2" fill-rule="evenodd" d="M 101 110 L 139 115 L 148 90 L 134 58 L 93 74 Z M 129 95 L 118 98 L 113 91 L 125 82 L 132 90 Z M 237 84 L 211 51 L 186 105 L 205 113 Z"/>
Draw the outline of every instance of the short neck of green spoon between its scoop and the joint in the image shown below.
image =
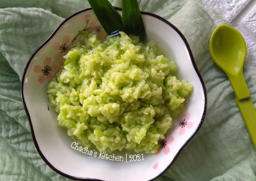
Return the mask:
<path id="1" fill-rule="evenodd" d="M 243 71 L 236 75 L 227 74 L 238 100 L 250 98 L 250 92 L 243 77 Z"/>

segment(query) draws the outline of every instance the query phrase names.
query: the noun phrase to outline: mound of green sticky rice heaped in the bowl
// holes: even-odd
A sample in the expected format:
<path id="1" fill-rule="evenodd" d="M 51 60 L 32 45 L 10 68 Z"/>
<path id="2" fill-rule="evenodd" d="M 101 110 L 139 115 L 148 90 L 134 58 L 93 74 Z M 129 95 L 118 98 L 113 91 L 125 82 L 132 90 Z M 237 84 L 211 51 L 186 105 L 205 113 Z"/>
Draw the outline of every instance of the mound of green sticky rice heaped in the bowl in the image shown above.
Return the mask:
<path id="1" fill-rule="evenodd" d="M 142 44 L 123 32 L 105 42 L 96 33 L 85 38 L 47 85 L 58 126 L 102 152 L 156 153 L 193 86 L 177 80 L 176 63 L 159 54 L 153 41 Z"/>

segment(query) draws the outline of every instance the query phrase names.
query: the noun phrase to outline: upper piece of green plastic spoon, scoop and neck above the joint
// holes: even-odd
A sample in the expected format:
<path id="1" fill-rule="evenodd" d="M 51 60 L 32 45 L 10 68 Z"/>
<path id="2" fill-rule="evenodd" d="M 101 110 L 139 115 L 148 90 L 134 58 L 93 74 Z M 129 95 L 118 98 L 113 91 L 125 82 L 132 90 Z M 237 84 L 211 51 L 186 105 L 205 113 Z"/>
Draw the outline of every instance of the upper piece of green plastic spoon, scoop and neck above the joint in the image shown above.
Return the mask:
<path id="1" fill-rule="evenodd" d="M 221 24 L 210 38 L 213 61 L 227 74 L 238 100 L 250 98 L 243 77 L 246 44 L 243 36 L 233 27 Z"/>

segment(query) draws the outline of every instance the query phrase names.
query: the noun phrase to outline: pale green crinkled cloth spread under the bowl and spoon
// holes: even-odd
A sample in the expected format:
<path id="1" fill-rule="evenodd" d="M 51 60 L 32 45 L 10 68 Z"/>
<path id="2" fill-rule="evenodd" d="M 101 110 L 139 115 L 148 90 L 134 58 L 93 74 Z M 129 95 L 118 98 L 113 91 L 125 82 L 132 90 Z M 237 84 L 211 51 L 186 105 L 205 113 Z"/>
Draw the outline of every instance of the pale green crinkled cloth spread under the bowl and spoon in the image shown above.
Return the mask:
<path id="1" fill-rule="evenodd" d="M 121 0 L 111 2 L 121 5 Z M 140 0 L 139 6 L 185 35 L 208 97 L 201 129 L 157 180 L 256 180 L 255 148 L 227 76 L 209 53 L 210 35 L 223 19 L 195 0 Z M 85 7 L 89 4 L 84 0 L 0 1 L 0 180 L 69 180 L 49 168 L 36 151 L 21 103 L 20 79 L 33 51 L 63 18 Z M 248 56 L 246 64 L 253 59 Z M 254 105 L 255 73 L 252 66 L 244 69 Z"/>

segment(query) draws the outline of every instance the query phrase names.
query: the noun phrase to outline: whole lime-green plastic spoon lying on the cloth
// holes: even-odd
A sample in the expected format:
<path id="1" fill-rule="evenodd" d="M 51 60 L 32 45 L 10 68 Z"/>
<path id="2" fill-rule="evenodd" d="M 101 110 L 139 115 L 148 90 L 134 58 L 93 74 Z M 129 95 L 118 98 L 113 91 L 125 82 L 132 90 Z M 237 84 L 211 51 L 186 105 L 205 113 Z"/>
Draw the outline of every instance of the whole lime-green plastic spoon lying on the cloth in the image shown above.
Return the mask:
<path id="1" fill-rule="evenodd" d="M 243 36 L 226 24 L 218 26 L 210 39 L 213 61 L 228 76 L 236 94 L 236 103 L 256 148 L 256 111 L 243 77 L 246 44 Z"/>

